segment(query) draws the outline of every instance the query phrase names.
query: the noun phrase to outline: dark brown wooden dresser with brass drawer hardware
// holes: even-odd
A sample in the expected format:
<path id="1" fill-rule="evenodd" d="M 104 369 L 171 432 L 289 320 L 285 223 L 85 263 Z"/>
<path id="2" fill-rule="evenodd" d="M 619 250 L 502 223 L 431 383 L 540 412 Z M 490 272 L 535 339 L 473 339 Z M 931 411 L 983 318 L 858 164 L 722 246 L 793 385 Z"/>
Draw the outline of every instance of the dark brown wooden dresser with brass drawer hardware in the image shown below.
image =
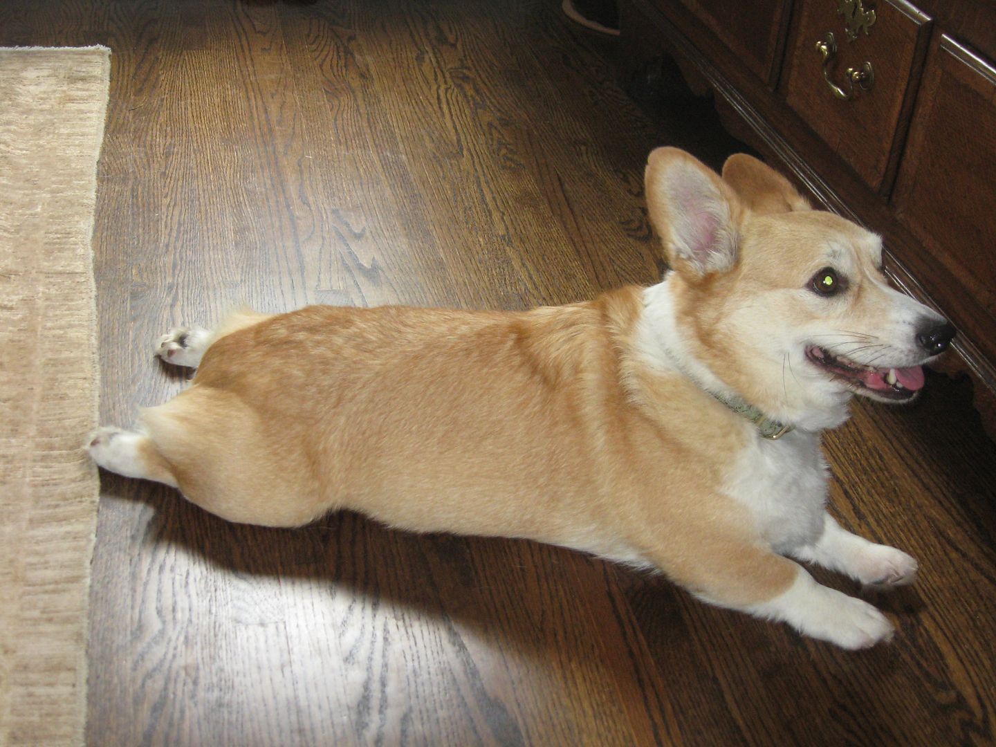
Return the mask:
<path id="1" fill-rule="evenodd" d="M 673 58 L 817 203 L 880 233 L 894 283 L 996 391 L 996 0 L 622 0 L 623 84 Z"/>

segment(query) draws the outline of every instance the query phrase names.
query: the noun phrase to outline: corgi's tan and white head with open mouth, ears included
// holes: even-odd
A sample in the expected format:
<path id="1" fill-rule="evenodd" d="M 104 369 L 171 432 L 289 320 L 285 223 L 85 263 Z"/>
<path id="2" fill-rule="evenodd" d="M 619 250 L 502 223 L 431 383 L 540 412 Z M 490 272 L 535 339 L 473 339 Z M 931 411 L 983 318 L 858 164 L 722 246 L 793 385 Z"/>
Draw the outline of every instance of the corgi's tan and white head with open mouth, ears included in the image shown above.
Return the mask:
<path id="1" fill-rule="evenodd" d="M 878 236 L 811 209 L 756 158 L 731 156 L 720 177 L 658 148 L 646 197 L 689 353 L 773 416 L 829 425 L 855 392 L 910 401 L 954 337 L 889 288 Z"/>

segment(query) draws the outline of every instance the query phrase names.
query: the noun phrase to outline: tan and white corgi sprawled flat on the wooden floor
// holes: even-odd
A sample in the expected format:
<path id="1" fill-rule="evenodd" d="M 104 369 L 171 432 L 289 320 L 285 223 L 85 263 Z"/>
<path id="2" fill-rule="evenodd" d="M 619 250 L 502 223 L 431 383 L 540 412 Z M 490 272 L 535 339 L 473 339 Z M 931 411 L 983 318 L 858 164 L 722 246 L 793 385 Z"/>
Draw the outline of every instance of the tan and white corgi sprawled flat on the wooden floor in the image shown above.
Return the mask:
<path id="1" fill-rule="evenodd" d="M 645 179 L 658 285 L 528 312 L 312 306 L 176 329 L 157 355 L 196 368 L 191 385 L 87 449 L 233 522 L 351 509 L 529 538 L 845 648 L 889 639 L 800 563 L 879 588 L 916 576 L 827 512 L 821 433 L 856 393 L 913 399 L 954 329 L 889 288 L 878 236 L 753 157 L 720 176 L 662 147 Z"/>

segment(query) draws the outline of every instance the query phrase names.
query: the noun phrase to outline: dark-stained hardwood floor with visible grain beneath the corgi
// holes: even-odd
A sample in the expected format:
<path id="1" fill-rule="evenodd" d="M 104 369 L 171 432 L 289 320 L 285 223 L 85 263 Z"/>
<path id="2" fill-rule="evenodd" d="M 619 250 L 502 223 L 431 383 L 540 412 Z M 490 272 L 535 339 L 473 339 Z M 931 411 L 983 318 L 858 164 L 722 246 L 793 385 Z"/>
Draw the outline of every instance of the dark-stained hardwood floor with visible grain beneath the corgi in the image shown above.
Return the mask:
<path id="1" fill-rule="evenodd" d="M 228 308 L 525 308 L 654 282 L 649 149 L 718 165 L 707 104 L 651 121 L 555 0 L 30 0 L 0 44 L 107 44 L 102 416 L 183 386 L 151 341 Z M 678 104 L 680 106 L 678 106 Z M 103 476 L 94 745 L 991 744 L 996 448 L 964 381 L 858 403 L 836 511 L 918 558 L 847 653 L 660 578 L 349 514 L 234 526 Z M 852 586 L 830 575 L 821 580 Z"/>

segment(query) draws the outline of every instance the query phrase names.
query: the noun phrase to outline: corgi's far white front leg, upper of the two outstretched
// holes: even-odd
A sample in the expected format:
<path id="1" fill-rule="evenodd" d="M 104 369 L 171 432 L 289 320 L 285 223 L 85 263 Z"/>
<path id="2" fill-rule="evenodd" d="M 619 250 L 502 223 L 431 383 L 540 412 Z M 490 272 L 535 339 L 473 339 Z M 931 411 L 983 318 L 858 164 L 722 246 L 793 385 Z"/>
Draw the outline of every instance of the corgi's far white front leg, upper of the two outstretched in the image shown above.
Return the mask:
<path id="1" fill-rule="evenodd" d="M 916 580 L 916 561 L 901 550 L 851 534 L 830 514 L 824 514 L 823 524 L 820 538 L 793 550 L 792 557 L 839 571 L 878 589 L 908 586 Z"/>

